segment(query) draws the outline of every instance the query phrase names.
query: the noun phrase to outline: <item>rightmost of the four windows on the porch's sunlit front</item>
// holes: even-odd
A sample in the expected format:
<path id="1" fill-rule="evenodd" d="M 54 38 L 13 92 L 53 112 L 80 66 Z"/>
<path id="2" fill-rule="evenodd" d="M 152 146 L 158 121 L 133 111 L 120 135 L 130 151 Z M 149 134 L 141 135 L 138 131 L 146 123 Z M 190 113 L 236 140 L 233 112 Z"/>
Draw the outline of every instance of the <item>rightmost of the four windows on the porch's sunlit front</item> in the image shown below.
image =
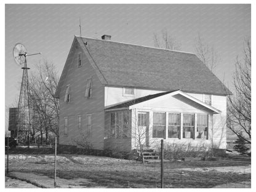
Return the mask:
<path id="1" fill-rule="evenodd" d="M 208 138 L 208 115 L 198 114 L 196 126 L 196 138 Z"/>

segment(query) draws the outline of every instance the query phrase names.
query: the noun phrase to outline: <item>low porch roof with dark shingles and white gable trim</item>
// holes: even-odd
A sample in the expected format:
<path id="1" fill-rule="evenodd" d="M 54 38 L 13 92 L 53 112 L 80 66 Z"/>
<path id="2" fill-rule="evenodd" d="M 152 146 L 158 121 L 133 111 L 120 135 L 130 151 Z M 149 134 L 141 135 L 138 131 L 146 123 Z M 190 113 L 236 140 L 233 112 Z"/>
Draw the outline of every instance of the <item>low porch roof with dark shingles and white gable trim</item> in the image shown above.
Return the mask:
<path id="1" fill-rule="evenodd" d="M 108 111 L 108 110 L 112 111 L 112 110 L 118 110 L 120 108 L 131 109 L 132 106 L 135 106 L 138 103 L 146 102 L 146 101 L 151 100 L 153 98 L 161 97 L 161 96 L 167 95 L 167 94 L 170 94 L 170 96 L 178 95 L 177 98 L 181 98 L 183 101 L 185 99 L 185 100 L 189 100 L 190 102 L 197 103 L 199 106 L 201 106 L 201 108 L 206 108 L 207 110 L 212 111 L 212 113 L 222 113 L 222 111 L 218 110 L 217 108 L 214 108 L 211 105 L 208 105 L 204 102 L 201 102 L 201 100 L 198 100 L 197 98 L 194 98 L 191 95 L 188 95 L 188 94 L 186 94 L 185 92 L 183 92 L 181 90 L 172 90 L 172 91 L 161 92 L 161 93 L 153 94 L 153 95 L 146 95 L 144 97 L 135 98 L 133 100 L 129 100 L 129 101 L 124 102 L 124 103 L 119 103 L 118 105 L 110 106 L 109 108 L 105 108 L 105 110 L 106 111 Z"/>

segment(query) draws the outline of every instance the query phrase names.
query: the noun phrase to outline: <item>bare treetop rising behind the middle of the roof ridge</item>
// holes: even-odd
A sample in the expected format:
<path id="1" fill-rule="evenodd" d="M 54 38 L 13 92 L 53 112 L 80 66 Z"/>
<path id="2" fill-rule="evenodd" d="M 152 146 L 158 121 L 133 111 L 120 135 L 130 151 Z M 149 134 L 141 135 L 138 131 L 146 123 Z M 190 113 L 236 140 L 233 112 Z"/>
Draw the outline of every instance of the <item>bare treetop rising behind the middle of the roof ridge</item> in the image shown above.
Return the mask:
<path id="1" fill-rule="evenodd" d="M 154 47 L 162 48 L 162 49 L 170 49 L 170 50 L 180 50 L 182 44 L 180 41 L 168 34 L 168 31 L 162 30 L 161 34 L 154 33 L 153 36 Z"/>

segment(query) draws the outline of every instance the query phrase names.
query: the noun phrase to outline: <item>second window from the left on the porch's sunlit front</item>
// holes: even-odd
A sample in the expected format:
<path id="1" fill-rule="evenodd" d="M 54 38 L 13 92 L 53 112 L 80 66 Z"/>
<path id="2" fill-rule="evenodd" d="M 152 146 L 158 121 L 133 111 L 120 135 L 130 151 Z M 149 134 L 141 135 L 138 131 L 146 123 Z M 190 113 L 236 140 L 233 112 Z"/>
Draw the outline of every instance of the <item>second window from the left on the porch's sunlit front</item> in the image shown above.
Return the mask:
<path id="1" fill-rule="evenodd" d="M 168 114 L 168 138 L 180 138 L 180 114 Z"/>

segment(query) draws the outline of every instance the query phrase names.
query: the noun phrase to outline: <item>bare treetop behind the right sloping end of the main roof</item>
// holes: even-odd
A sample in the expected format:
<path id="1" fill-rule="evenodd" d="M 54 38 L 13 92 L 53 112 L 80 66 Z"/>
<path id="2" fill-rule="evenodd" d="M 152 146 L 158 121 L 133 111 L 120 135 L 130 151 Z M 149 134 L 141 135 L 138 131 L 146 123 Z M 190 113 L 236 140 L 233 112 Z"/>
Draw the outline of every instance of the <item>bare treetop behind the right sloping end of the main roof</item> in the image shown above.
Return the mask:
<path id="1" fill-rule="evenodd" d="M 195 39 L 194 49 L 199 59 L 210 71 L 214 71 L 217 63 L 220 62 L 220 57 L 218 57 L 218 53 L 214 46 L 209 46 L 200 33 L 198 33 L 198 37 Z"/>

